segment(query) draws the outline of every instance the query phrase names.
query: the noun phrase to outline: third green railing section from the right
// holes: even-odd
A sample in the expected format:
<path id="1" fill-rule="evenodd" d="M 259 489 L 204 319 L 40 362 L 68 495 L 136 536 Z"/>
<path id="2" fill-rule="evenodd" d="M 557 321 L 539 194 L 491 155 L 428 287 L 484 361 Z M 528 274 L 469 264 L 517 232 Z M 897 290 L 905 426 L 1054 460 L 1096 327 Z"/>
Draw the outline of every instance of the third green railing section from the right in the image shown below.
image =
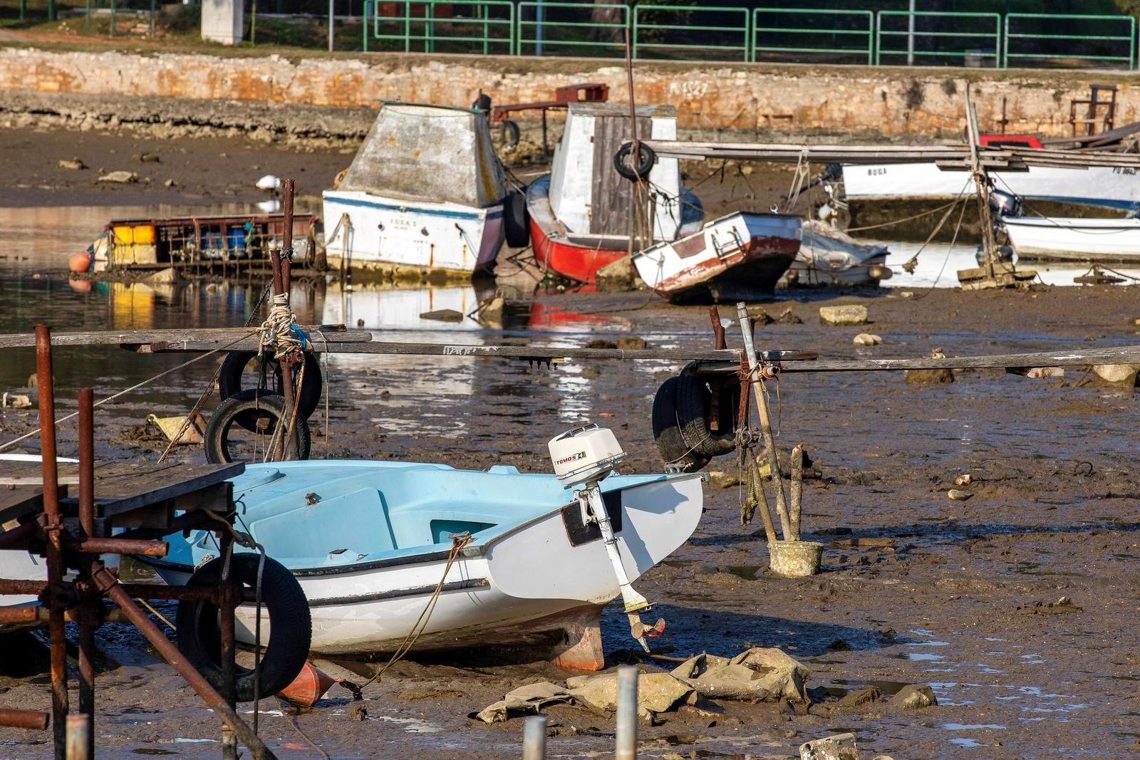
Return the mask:
<path id="1" fill-rule="evenodd" d="M 828 8 L 757 8 L 752 60 L 874 63 L 874 14 Z"/>

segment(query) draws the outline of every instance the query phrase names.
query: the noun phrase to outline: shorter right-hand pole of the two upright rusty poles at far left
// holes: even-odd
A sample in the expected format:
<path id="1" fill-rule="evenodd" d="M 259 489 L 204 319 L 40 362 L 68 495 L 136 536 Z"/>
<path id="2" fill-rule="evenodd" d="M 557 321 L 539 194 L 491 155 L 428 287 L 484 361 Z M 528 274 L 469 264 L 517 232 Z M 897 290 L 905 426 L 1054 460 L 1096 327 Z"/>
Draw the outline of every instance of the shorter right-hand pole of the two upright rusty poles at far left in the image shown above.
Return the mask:
<path id="1" fill-rule="evenodd" d="M 95 538 L 95 397 L 91 389 L 79 391 L 79 525 L 83 538 Z M 79 620 L 79 712 L 67 717 L 67 757 L 73 754 L 72 721 L 84 726 L 85 754 L 95 757 L 95 629 L 98 626 L 101 603 L 88 599 L 80 607 Z M 74 729 L 80 732 L 80 729 Z M 79 734 L 76 733 L 79 738 Z"/>

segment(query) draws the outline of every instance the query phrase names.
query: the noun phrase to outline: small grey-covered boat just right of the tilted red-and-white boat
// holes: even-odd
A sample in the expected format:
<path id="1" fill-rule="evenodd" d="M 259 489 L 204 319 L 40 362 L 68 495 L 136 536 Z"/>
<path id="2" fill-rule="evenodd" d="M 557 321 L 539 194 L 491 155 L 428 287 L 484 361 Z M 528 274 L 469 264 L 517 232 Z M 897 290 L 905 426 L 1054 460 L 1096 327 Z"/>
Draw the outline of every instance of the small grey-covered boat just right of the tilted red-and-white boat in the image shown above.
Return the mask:
<path id="1" fill-rule="evenodd" d="M 825 222 L 804 222 L 804 242 L 785 278 L 789 285 L 878 285 L 890 279 L 885 245 L 863 244 Z"/>

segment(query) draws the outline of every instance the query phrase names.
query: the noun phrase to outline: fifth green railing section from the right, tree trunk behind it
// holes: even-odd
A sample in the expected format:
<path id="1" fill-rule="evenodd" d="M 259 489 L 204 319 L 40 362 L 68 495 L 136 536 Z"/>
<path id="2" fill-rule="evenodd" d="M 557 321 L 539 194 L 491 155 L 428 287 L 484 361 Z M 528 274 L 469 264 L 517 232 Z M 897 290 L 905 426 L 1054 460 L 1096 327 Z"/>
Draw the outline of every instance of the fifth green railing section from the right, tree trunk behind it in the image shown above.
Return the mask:
<path id="1" fill-rule="evenodd" d="M 598 21 L 594 10 L 620 21 Z M 629 6 L 581 2 L 520 2 L 515 52 L 520 56 L 625 56 Z"/>

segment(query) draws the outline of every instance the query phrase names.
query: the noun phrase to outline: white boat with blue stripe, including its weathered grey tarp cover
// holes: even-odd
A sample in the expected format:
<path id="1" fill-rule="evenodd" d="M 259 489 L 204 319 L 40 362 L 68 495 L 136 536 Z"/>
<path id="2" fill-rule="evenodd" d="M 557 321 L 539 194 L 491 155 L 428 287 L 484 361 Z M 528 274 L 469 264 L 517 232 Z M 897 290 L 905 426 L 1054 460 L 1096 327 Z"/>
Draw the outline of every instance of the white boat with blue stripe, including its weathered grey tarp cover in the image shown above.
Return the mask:
<path id="1" fill-rule="evenodd" d="M 498 255 L 506 196 L 486 114 L 385 103 L 324 193 L 328 264 L 470 276 Z"/>

